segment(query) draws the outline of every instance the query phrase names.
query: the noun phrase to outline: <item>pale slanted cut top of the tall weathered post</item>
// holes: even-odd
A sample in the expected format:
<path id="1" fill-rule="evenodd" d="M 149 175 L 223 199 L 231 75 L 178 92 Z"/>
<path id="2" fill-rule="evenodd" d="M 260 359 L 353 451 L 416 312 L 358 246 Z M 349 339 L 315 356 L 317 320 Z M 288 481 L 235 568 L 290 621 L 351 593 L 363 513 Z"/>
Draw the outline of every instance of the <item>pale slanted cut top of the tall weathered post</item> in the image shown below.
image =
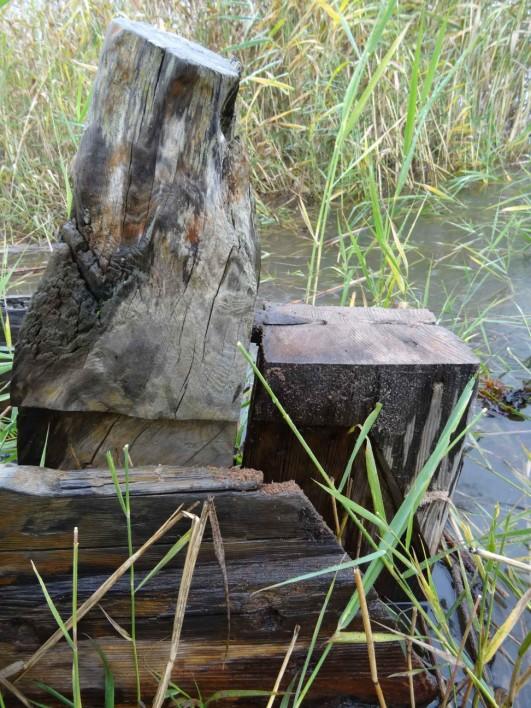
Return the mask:
<path id="1" fill-rule="evenodd" d="M 187 64 L 192 64 L 202 69 L 211 69 L 235 79 L 240 76 L 240 66 L 237 61 L 225 59 L 219 54 L 210 51 L 210 49 L 184 39 L 184 37 L 179 35 L 158 29 L 145 22 L 128 20 L 125 17 L 118 17 L 111 22 L 108 35 L 112 36 L 120 30 L 134 32 L 156 47 L 160 47 L 160 49 L 173 54 L 178 59 L 182 59 Z"/>

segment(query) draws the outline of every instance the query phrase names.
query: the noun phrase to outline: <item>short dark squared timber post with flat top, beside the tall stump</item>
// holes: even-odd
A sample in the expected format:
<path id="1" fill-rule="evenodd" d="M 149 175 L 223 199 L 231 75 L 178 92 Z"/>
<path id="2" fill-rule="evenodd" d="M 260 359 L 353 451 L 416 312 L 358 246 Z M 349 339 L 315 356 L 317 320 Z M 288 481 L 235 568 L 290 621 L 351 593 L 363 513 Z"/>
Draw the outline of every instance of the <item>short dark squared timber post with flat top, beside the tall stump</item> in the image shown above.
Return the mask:
<path id="1" fill-rule="evenodd" d="M 355 443 L 352 426 L 382 403 L 371 441 L 392 516 L 475 375 L 476 357 L 427 310 L 266 305 L 255 316 L 255 334 L 261 372 L 335 479 Z M 461 451 L 456 445 L 442 462 L 418 513 L 430 552 L 440 541 Z M 267 481 L 297 481 L 332 523 L 330 496 L 313 481 L 318 473 L 259 383 L 244 464 L 262 470 Z M 352 497 L 372 506 L 364 464 L 354 467 Z M 356 533 L 347 545 L 356 551 Z"/>

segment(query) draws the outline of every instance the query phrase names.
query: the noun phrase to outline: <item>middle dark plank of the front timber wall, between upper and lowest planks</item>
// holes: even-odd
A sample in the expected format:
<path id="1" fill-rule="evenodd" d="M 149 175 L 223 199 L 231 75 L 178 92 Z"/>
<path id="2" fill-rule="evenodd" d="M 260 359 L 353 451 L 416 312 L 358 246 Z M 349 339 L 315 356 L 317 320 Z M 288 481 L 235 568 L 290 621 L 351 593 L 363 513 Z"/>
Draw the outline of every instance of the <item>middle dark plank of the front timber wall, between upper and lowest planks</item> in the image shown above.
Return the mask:
<path id="1" fill-rule="evenodd" d="M 284 546 L 284 553 L 254 555 L 248 546 L 246 557 L 238 560 L 227 558 L 231 608 L 231 636 L 234 639 L 253 639 L 273 633 L 289 639 L 295 624 L 302 627 L 303 636 L 310 636 L 322 607 L 333 575 L 318 576 L 311 580 L 292 583 L 265 592 L 257 592 L 271 584 L 322 570 L 341 562 L 342 554 L 334 549 L 310 548 L 301 554 L 300 548 Z M 294 552 L 293 552 L 294 551 Z M 183 553 L 184 555 L 184 553 Z M 83 559 L 81 558 L 81 563 Z M 158 640 L 171 635 L 175 603 L 181 580 L 182 568 L 165 568 L 148 581 L 135 598 L 135 614 L 139 636 Z M 104 582 L 107 574 L 95 571 L 83 573 L 79 579 L 79 603 L 90 597 Z M 136 582 L 145 577 L 137 572 Z M 46 587 L 55 606 L 63 617 L 71 611 L 71 574 L 44 576 Z M 332 633 L 341 610 L 353 592 L 352 571 L 338 574 L 333 602 L 323 624 L 323 631 Z M 257 593 L 257 594 L 254 594 Z M 125 575 L 109 590 L 101 606 L 120 625 L 128 627 L 130 621 L 129 576 Z M 226 598 L 223 575 L 215 558 L 203 555 L 196 567 L 188 600 L 185 636 L 202 638 L 205 642 L 223 637 L 227 632 Z M 385 607 L 371 596 L 371 616 L 376 621 L 389 621 Z M 353 628 L 362 629 L 361 618 Z M 42 591 L 36 581 L 4 586 L 0 601 L 0 636 L 13 641 L 21 650 L 35 650 L 56 629 Z M 80 635 L 93 638 L 112 634 L 103 613 L 96 608 L 79 625 Z"/>

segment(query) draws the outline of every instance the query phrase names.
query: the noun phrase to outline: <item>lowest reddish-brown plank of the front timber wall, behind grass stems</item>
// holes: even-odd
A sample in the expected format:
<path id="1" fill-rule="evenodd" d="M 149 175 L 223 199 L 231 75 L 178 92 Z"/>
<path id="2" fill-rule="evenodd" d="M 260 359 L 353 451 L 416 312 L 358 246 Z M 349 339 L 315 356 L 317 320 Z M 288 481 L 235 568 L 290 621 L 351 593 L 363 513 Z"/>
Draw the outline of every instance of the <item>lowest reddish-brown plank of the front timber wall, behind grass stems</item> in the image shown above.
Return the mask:
<path id="1" fill-rule="evenodd" d="M 271 690 L 279 668 L 286 654 L 285 640 L 256 640 L 254 642 L 229 644 L 228 650 L 223 640 L 205 645 L 193 639 L 181 643 L 177 662 L 172 674 L 173 681 L 184 690 L 197 696 L 199 689 L 204 697 L 219 690 L 251 689 Z M 131 701 L 134 697 L 135 677 L 131 660 L 131 649 L 120 638 L 108 637 L 98 640 L 98 645 L 105 652 L 116 681 L 117 702 Z M 103 705 L 104 676 L 101 659 L 94 645 L 89 640 L 80 641 L 80 675 L 84 705 Z M 310 671 L 320 656 L 322 646 L 318 647 L 310 663 Z M 140 639 L 138 642 L 139 666 L 141 672 L 142 696 L 149 703 L 156 690 L 157 675 L 162 673 L 169 653 L 169 641 L 151 642 Z M 308 651 L 308 640 L 297 642 L 282 682 L 286 690 L 289 682 L 302 666 Z M 13 656 L 13 647 L 2 644 L 0 656 Z M 393 676 L 397 666 L 405 666 L 403 648 L 398 643 L 377 644 L 376 659 L 378 675 L 384 694 L 389 704 L 409 704 L 409 681 L 407 676 Z M 418 660 L 414 660 L 418 667 Z M 47 682 L 64 694 L 71 691 L 72 654 L 68 647 L 59 645 L 48 652 L 41 662 L 25 674 L 17 686 L 28 696 L 39 695 L 34 684 L 35 679 Z M 435 686 L 433 679 L 426 673 L 415 674 L 413 682 L 416 699 L 420 704 L 433 698 Z M 42 700 L 42 694 L 41 700 Z M 374 702 L 374 689 L 370 679 L 366 647 L 362 645 L 336 646 L 333 648 L 322 671 L 317 675 L 312 689 L 312 697 L 356 696 L 362 700 Z M 229 705 L 222 702 L 219 705 Z M 251 706 L 251 699 L 238 705 Z M 265 705 L 262 699 L 254 705 Z"/>

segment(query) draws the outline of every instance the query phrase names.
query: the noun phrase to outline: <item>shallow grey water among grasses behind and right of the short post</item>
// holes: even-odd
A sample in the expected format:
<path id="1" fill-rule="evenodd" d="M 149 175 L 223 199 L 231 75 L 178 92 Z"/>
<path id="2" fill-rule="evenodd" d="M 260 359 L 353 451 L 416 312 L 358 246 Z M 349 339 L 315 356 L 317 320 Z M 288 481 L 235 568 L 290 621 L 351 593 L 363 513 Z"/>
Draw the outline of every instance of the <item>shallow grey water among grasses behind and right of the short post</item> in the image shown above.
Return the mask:
<path id="1" fill-rule="evenodd" d="M 514 229 L 508 231 L 507 243 L 515 246 L 508 258 L 505 243 L 491 249 L 489 259 L 493 261 L 493 274 L 485 279 L 478 274 L 471 249 L 481 250 L 492 243 L 495 205 L 517 195 L 519 190 L 524 194 L 529 186 L 520 182 L 461 193 L 460 204 L 452 205 L 447 213 L 420 217 L 410 238 L 414 247 L 410 260 L 418 262 L 411 266 L 409 275 L 419 299 L 422 300 L 430 263 L 435 261 L 427 306 L 442 324 L 465 334 L 468 344 L 489 366 L 493 376 L 515 387 L 531 379 L 531 253 L 529 248 L 527 253 L 523 248 L 525 234 L 515 233 Z M 504 214 L 510 212 L 502 213 L 502 220 Z M 318 304 L 340 304 L 340 276 L 333 271 L 338 262 L 338 248 L 333 237 L 331 233 L 330 245 L 323 256 L 322 294 Z M 300 217 L 294 214 L 288 228 L 284 225 L 262 228 L 261 238 L 264 251 L 262 298 L 273 301 L 303 298 L 311 242 Z M 456 248 L 460 249 L 457 253 Z M 449 295 L 456 302 L 451 312 L 444 312 Z M 356 304 L 362 304 L 359 295 Z M 469 323 L 487 307 L 483 329 L 469 332 Z M 522 366 L 517 360 L 526 365 Z M 479 404 L 476 408 L 480 410 Z M 526 450 L 531 450 L 531 407 L 522 413 L 530 419 L 516 421 L 502 416 L 481 419 L 475 435 L 478 447 L 469 447 L 466 451 L 454 501 L 479 528 L 486 527 L 497 504 L 502 515 L 509 510 L 529 508 L 529 498 L 513 485 L 514 470 L 521 473 L 527 483 L 531 472 L 529 464 L 526 467 Z M 522 549 L 522 555 L 528 553 L 528 548 Z M 439 591 L 450 606 L 453 603 L 451 582 L 445 577 L 444 569 L 439 569 L 438 574 Z M 503 621 L 509 609 L 500 604 L 495 619 Z M 524 626 L 517 627 L 514 635 L 525 636 Z M 509 648 L 513 655 L 515 647 L 516 644 Z M 492 672 L 495 684 L 508 685 L 511 667 L 501 654 Z M 521 693 L 517 705 L 531 705 L 531 690 Z"/>

